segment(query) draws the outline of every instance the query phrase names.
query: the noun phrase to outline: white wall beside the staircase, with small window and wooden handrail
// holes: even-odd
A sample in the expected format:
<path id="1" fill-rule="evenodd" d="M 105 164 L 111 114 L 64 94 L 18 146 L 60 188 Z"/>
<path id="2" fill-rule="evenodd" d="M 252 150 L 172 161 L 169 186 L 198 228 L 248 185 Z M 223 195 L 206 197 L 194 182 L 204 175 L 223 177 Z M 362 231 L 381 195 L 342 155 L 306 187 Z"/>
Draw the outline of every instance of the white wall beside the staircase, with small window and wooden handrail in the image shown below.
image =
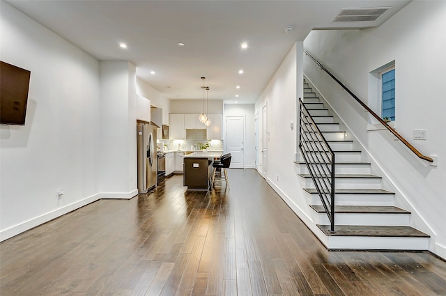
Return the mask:
<path id="1" fill-rule="evenodd" d="M 305 59 L 305 75 L 399 189 L 402 197 L 397 204 L 415 212 L 410 223 L 433 236 L 431 251 L 443 258 L 446 258 L 445 15 L 445 1 L 413 1 L 378 28 L 313 31 L 305 40 L 305 49 L 364 102 L 372 101 L 368 98 L 372 93 L 369 72 L 395 61 L 396 130 L 425 155 L 437 155 L 438 166 L 419 160 L 388 132 L 367 132 L 367 114 L 309 59 Z M 426 141 L 413 140 L 413 130 L 418 128 L 427 129 Z"/>

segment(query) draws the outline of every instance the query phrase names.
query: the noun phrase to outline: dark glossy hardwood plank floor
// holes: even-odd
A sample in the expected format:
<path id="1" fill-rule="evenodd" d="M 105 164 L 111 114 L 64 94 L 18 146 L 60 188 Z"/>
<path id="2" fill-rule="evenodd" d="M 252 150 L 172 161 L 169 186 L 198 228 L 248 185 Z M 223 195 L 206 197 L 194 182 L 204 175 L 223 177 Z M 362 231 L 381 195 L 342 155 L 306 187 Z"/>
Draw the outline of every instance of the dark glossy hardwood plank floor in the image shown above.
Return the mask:
<path id="1" fill-rule="evenodd" d="M 446 295 L 427 253 L 327 251 L 254 170 L 210 194 L 183 176 L 0 244 L 0 295 Z"/>

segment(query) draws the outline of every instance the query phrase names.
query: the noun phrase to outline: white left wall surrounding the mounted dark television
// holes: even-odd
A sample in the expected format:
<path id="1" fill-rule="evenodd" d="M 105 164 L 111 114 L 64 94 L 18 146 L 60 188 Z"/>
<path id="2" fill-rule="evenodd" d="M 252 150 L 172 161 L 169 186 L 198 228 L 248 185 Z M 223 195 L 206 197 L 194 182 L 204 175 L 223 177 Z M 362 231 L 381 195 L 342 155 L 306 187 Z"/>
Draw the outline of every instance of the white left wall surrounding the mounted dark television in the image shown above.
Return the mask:
<path id="1" fill-rule="evenodd" d="M 7 3 L 0 6 L 0 59 L 31 70 L 25 125 L 0 127 L 4 240 L 98 198 L 100 65 Z"/>

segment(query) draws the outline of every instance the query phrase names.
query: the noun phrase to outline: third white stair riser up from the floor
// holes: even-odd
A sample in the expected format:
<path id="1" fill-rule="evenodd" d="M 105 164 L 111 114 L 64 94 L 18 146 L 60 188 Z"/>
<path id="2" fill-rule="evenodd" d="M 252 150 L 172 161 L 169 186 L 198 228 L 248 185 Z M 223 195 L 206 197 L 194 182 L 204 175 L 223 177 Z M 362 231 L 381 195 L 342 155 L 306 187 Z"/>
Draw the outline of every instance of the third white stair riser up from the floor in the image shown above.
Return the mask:
<path id="1" fill-rule="evenodd" d="M 309 194 L 310 204 L 322 205 L 318 194 Z M 394 194 L 336 194 L 335 205 L 394 205 Z"/>

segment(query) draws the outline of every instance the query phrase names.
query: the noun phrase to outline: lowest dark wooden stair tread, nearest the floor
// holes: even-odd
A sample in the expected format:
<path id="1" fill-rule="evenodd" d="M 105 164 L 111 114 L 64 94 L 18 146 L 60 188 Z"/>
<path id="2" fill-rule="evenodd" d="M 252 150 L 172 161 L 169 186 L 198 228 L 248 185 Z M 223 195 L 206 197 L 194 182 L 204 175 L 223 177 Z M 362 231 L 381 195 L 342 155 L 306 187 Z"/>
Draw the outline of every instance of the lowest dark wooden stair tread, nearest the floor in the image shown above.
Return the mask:
<path id="1" fill-rule="evenodd" d="M 330 225 L 316 224 L 328 236 L 368 236 L 368 237 L 430 237 L 410 226 L 356 226 L 337 225 L 330 233 Z"/>

